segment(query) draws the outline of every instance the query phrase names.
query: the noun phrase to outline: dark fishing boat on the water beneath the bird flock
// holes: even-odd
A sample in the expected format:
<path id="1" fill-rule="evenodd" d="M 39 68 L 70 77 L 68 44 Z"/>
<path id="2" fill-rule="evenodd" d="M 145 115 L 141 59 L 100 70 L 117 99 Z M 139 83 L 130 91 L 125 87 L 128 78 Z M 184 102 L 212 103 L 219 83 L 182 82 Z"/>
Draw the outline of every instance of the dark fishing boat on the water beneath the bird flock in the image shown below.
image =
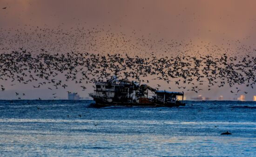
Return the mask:
<path id="1" fill-rule="evenodd" d="M 117 79 L 115 76 L 105 82 L 95 82 L 94 92 L 89 93 L 95 101 L 94 107 L 107 106 L 184 106 L 184 92 L 159 91 L 148 85 Z"/>

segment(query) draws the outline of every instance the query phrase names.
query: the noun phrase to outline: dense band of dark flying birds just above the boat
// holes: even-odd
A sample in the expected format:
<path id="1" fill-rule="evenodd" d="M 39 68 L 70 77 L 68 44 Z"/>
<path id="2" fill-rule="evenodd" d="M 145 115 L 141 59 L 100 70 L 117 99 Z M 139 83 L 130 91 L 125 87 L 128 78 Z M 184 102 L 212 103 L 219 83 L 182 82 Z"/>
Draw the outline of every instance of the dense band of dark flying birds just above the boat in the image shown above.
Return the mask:
<path id="1" fill-rule="evenodd" d="M 164 81 L 170 87 L 177 86 L 182 90 L 197 93 L 205 84 L 208 90 L 224 85 L 229 87 L 245 85 L 253 88 L 256 83 L 255 72 L 256 57 L 249 55 L 243 58 L 229 57 L 226 54 L 219 57 L 210 55 L 157 57 L 152 53 L 148 57 L 131 57 L 129 54 L 120 53 L 59 54 L 46 52 L 44 49 L 33 55 L 23 47 L 20 47 L 19 51 L 0 54 L 1 91 L 5 91 L 4 82 L 7 80 L 25 85 L 35 82 L 37 85 L 33 84 L 34 88 L 48 85 L 50 91 L 58 88 L 65 90 L 66 82 L 74 81 L 84 91 L 87 88 L 86 84 L 103 81 L 116 75 L 119 79 L 132 79 L 147 84 L 151 80 Z M 61 77 L 58 77 L 60 75 Z M 160 87 L 161 85 L 157 84 L 155 88 Z M 236 91 L 230 92 L 237 94 L 242 91 L 236 87 Z M 57 98 L 55 94 L 54 92 L 53 96 Z M 24 96 L 25 93 L 16 92 L 16 95 Z"/>

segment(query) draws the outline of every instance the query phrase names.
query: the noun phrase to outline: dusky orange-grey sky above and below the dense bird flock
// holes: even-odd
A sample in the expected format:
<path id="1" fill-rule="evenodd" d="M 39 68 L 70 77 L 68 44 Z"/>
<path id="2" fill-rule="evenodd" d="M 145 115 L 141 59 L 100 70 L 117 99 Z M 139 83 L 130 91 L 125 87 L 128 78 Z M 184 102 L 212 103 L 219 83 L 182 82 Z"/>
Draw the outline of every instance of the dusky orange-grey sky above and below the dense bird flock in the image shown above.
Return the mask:
<path id="1" fill-rule="evenodd" d="M 154 43 L 153 50 L 159 55 L 215 53 L 206 48 L 205 45 L 209 45 L 229 48 L 229 55 L 243 56 L 251 52 L 256 56 L 256 51 L 253 51 L 256 48 L 255 6 L 255 0 L 0 0 L 0 8 L 7 7 L 0 9 L 0 53 L 11 52 L 20 46 L 33 53 L 37 53 L 42 46 L 53 53 L 119 53 L 127 49 L 107 46 L 124 37 L 129 40 L 128 46 L 136 47 L 129 51 L 139 55 L 151 51 L 141 44 L 141 39 L 146 39 L 148 43 L 163 39 L 166 43 L 193 43 L 193 47 L 177 47 L 166 52 L 161 48 L 166 47 L 163 45 L 165 43 Z M 46 33 L 47 38 L 35 36 L 36 29 L 45 29 L 40 34 L 43 36 Z M 88 30 L 93 29 L 100 30 L 93 37 L 97 39 L 94 41 L 98 45 L 95 49 L 88 47 L 86 39 L 79 36 L 81 30 L 88 33 Z M 57 33 L 60 30 L 69 35 L 74 33 L 74 37 L 63 39 Z M 17 37 L 19 33 L 22 37 Z M 102 45 L 98 41 L 107 38 L 106 33 L 115 35 L 107 44 Z M 15 39 L 22 42 L 17 44 Z M 221 53 L 224 52 L 215 55 Z M 6 84 L 10 82 L 7 81 Z M 9 86 L 6 92 L 0 93 L 0 98 L 16 98 L 13 96 L 14 91 L 27 92 L 25 98 L 28 99 L 37 98 L 38 95 L 45 99 L 51 98 L 46 89 L 35 90 L 31 86 Z M 88 92 L 93 91 L 91 85 L 88 85 L 87 92 L 81 92 L 76 85 L 70 88 L 78 91 L 82 97 L 88 97 Z M 203 95 L 216 99 L 223 95 L 224 99 L 233 99 L 234 96 L 227 91 L 229 88 L 224 87 L 209 93 L 190 94 L 188 98 Z M 67 98 L 66 92 L 56 92 L 60 98 Z M 247 100 L 252 100 L 253 95 L 256 92 L 249 89 Z"/>

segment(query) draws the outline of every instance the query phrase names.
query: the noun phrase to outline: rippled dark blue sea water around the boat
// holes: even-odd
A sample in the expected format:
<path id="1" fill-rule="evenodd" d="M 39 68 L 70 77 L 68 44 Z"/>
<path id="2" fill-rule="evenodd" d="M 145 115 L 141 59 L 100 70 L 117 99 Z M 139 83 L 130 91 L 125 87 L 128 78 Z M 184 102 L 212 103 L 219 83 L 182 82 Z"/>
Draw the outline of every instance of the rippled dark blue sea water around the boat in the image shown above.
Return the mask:
<path id="1" fill-rule="evenodd" d="M 0 101 L 0 156 L 255 156 L 256 102 L 90 108 Z M 222 136 L 229 131 L 232 135 Z"/>

